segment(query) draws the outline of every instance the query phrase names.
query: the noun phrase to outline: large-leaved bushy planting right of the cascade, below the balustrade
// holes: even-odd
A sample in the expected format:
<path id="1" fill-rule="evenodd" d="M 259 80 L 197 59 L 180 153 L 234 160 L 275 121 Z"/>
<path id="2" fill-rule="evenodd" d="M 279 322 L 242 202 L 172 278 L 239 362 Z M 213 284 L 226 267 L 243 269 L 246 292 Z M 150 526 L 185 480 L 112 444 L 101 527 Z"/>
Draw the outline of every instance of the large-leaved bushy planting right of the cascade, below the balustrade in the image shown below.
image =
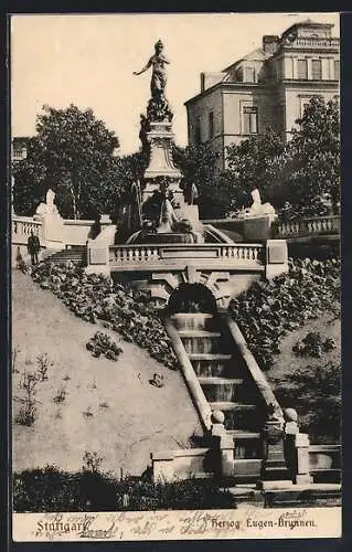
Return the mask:
<path id="1" fill-rule="evenodd" d="M 288 332 L 324 311 L 340 316 L 340 259 L 289 261 L 288 274 L 258 280 L 230 304 L 260 368 L 268 370 Z"/>

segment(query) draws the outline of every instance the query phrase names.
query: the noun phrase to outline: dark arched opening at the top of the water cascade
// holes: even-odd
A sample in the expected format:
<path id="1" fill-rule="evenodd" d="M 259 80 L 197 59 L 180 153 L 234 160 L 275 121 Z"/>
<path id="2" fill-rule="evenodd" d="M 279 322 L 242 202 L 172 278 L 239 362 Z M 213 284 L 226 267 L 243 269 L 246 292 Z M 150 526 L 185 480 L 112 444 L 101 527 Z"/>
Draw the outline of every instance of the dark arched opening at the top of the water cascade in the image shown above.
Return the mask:
<path id="1" fill-rule="evenodd" d="M 203 284 L 181 284 L 169 298 L 169 311 L 204 312 L 215 315 L 216 300 L 212 291 Z"/>

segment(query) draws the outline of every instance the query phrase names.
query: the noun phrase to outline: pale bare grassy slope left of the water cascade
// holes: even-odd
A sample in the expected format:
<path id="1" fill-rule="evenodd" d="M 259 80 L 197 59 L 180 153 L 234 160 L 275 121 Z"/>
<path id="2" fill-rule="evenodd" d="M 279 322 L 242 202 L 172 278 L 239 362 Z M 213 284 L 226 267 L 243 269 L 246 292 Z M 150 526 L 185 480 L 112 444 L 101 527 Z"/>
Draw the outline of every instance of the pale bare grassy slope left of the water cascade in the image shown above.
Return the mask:
<path id="1" fill-rule="evenodd" d="M 51 291 L 40 289 L 18 270 L 13 272 L 12 305 L 12 343 L 21 349 L 17 369 L 34 370 L 34 363 L 25 361 L 34 362 L 41 352 L 54 360 L 49 381 L 36 388 L 34 426 L 14 424 L 14 470 L 46 464 L 76 470 L 86 450 L 97 450 L 105 456 L 102 469 L 119 475 L 122 468 L 137 475 L 150 464 L 150 452 L 184 447 L 200 429 L 179 372 L 125 341 L 117 362 L 90 357 L 85 344 L 99 326 L 76 318 Z M 164 388 L 149 384 L 154 372 L 163 374 Z M 66 375 L 68 381 L 63 380 Z M 20 374 L 14 373 L 13 417 L 23 396 L 19 380 Z M 63 385 L 67 395 L 57 405 L 53 397 Z"/>

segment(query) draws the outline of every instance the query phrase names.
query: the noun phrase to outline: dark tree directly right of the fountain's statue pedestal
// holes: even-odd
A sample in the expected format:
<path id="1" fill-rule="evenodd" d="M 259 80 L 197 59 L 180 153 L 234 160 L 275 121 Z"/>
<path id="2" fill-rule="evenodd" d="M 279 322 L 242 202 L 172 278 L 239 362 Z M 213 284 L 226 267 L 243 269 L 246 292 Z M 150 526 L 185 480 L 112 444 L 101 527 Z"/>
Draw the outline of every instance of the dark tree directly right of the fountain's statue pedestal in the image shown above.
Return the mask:
<path id="1" fill-rule="evenodd" d="M 173 151 L 174 162 L 185 181 L 194 183 L 199 190 L 201 219 L 222 217 L 228 210 L 227 181 L 220 178 L 218 157 L 207 145 L 175 147 Z"/>

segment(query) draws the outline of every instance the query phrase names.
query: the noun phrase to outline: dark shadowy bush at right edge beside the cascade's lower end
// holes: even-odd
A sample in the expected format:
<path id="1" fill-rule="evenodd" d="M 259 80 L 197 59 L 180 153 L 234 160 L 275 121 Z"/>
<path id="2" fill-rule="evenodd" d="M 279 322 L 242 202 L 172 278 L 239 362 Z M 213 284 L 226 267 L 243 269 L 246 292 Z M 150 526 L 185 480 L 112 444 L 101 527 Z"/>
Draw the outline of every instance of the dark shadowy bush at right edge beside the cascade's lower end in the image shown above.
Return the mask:
<path id="1" fill-rule="evenodd" d="M 280 381 L 276 395 L 284 407 L 294 407 L 301 431 L 312 442 L 340 440 L 341 364 L 308 365 Z"/>

